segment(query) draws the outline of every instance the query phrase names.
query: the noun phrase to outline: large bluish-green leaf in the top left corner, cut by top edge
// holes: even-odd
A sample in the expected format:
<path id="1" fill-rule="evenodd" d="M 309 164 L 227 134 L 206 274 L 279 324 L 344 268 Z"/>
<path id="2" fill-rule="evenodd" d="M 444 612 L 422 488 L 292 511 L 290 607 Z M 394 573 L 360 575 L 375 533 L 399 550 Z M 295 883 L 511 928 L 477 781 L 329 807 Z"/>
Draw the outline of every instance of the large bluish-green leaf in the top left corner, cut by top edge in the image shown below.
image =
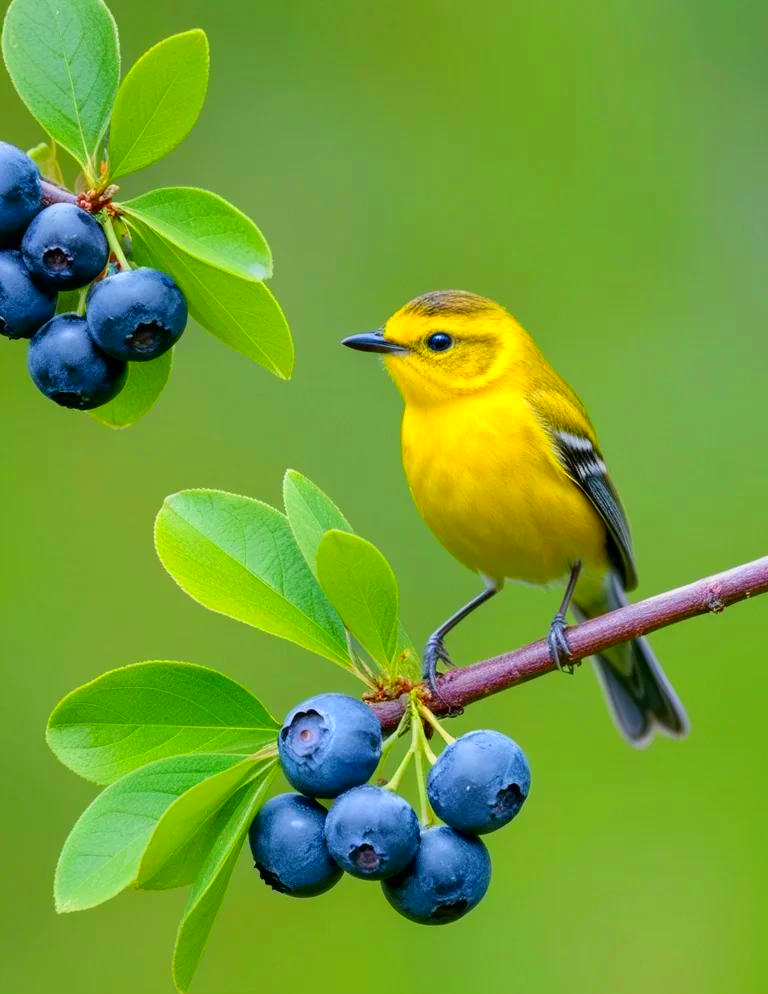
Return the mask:
<path id="1" fill-rule="evenodd" d="M 117 27 L 101 0 L 13 0 L 3 28 L 13 84 L 93 180 L 120 78 Z"/>

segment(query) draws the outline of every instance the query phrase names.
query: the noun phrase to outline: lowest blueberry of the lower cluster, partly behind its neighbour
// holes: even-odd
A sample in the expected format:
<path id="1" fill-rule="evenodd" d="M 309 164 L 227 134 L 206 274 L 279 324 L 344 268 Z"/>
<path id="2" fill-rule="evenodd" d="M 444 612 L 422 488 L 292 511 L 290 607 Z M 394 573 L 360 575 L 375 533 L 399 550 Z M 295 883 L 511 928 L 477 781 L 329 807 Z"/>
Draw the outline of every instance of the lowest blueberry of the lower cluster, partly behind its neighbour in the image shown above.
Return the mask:
<path id="1" fill-rule="evenodd" d="M 441 825 L 421 833 L 416 859 L 382 883 L 384 896 L 401 915 L 422 925 L 447 925 L 483 898 L 491 859 L 480 839 Z"/>

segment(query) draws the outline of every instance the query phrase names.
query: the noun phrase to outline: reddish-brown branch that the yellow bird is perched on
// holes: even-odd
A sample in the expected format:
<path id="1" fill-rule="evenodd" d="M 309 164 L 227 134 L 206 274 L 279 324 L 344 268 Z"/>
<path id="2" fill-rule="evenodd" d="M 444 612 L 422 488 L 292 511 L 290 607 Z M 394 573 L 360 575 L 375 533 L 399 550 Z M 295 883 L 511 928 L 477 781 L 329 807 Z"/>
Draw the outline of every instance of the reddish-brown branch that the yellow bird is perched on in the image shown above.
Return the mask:
<path id="1" fill-rule="evenodd" d="M 696 580 L 628 607 L 611 611 L 567 629 L 574 661 L 601 649 L 647 635 L 657 628 L 677 624 L 699 614 L 720 614 L 730 604 L 768 592 L 768 556 L 744 563 L 725 573 Z M 435 714 L 447 714 L 482 697 L 498 694 L 515 684 L 550 673 L 555 667 L 547 643 L 533 642 L 514 652 L 485 659 L 463 669 L 451 670 L 440 679 L 440 698 L 430 700 Z M 372 704 L 385 731 L 396 727 L 407 698 Z"/>

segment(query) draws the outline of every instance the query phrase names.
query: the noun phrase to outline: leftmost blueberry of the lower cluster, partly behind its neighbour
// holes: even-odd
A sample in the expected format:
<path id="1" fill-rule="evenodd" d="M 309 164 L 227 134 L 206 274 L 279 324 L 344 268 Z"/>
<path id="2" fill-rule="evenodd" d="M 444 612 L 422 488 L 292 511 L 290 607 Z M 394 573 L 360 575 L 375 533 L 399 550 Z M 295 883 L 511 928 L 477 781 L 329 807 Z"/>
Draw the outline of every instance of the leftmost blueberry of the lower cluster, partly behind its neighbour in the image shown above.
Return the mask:
<path id="1" fill-rule="evenodd" d="M 253 819 L 251 852 L 265 884 L 280 894 L 314 897 L 341 879 L 325 844 L 325 808 L 302 794 L 279 794 Z"/>

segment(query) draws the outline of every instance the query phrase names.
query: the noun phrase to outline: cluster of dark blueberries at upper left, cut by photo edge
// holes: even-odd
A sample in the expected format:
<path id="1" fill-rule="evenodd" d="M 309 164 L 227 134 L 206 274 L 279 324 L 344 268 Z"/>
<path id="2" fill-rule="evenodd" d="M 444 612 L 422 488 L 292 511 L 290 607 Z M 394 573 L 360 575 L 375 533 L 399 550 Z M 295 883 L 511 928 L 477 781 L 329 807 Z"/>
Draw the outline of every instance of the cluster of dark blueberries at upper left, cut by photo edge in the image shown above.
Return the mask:
<path id="1" fill-rule="evenodd" d="M 37 166 L 0 142 L 0 334 L 31 339 L 30 375 L 62 407 L 112 400 L 128 362 L 156 359 L 186 327 L 187 303 L 170 276 L 110 272 L 109 255 L 96 218 L 76 204 L 44 206 Z M 56 315 L 60 291 L 90 283 L 84 316 Z"/>

